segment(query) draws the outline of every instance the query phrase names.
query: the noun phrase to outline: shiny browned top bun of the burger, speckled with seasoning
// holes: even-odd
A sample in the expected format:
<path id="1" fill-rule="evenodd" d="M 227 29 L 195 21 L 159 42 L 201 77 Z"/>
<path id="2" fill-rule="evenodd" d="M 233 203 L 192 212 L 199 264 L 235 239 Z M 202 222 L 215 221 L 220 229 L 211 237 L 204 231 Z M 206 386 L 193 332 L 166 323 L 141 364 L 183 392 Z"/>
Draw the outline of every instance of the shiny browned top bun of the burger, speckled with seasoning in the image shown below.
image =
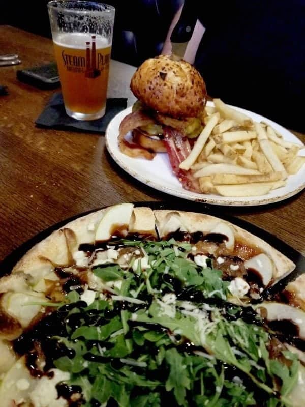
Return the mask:
<path id="1" fill-rule="evenodd" d="M 148 107 L 174 118 L 197 117 L 206 104 L 205 83 L 186 61 L 160 55 L 143 62 L 131 79 L 133 94 Z"/>

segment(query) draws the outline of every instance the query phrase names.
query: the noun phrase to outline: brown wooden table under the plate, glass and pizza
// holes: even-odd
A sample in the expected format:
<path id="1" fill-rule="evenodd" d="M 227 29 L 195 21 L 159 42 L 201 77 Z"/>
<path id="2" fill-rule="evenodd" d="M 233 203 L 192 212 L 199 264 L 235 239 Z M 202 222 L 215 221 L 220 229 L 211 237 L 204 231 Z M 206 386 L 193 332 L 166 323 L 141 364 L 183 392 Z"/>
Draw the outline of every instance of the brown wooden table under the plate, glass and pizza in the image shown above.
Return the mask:
<path id="1" fill-rule="evenodd" d="M 189 204 L 127 175 L 107 153 L 103 135 L 35 126 L 55 91 L 22 84 L 16 71 L 52 61 L 49 39 L 0 26 L 0 53 L 17 53 L 22 60 L 22 65 L 0 68 L 0 84 L 9 91 L 0 97 L 0 259 L 37 232 L 78 213 L 124 201 Z M 134 70 L 112 61 L 108 96 L 128 97 L 131 105 L 129 83 Z M 268 230 L 305 254 L 304 207 L 305 195 L 300 193 L 271 206 L 222 210 Z"/>

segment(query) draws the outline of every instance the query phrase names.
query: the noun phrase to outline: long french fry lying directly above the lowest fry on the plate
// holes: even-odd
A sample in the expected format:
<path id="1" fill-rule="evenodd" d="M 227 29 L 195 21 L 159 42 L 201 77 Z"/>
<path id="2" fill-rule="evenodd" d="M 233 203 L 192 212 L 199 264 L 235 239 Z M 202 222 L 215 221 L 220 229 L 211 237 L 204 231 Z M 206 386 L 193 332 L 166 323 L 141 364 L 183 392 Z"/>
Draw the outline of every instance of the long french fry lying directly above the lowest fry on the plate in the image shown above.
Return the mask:
<path id="1" fill-rule="evenodd" d="M 255 175 L 235 175 L 235 174 L 215 174 L 201 177 L 214 185 L 248 184 L 257 182 L 273 182 L 281 180 L 281 172 L 269 172 L 268 174 Z"/>

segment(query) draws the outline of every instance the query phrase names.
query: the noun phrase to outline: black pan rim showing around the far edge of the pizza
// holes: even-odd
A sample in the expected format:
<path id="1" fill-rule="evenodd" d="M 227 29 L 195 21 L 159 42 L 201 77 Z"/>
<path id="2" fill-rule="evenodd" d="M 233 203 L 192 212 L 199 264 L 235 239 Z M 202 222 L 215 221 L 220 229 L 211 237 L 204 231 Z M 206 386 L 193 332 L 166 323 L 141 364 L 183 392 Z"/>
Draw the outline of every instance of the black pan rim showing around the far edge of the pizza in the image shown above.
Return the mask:
<path id="1" fill-rule="evenodd" d="M 294 280 L 298 275 L 305 272 L 305 257 L 299 253 L 297 250 L 289 246 L 287 243 L 283 242 L 281 239 L 277 238 L 276 236 L 270 234 L 268 231 L 253 225 L 250 222 L 245 220 L 226 215 L 225 208 L 217 209 L 217 208 L 210 208 L 209 206 L 200 205 L 197 202 L 160 202 L 160 201 L 144 201 L 144 202 L 133 202 L 136 207 L 146 206 L 153 210 L 156 209 L 169 209 L 169 210 L 177 210 L 177 211 L 189 211 L 189 212 L 197 212 L 208 214 L 212 216 L 216 216 L 218 218 L 227 220 L 247 231 L 252 233 L 253 235 L 263 239 L 265 242 L 269 243 L 272 247 L 280 251 L 286 257 L 293 261 L 295 264 L 295 269 L 292 273 L 290 273 L 287 277 L 280 280 L 277 284 L 273 285 L 271 288 L 268 289 L 266 292 L 267 295 L 275 295 L 280 293 L 285 285 L 289 282 Z M 68 222 L 75 220 L 81 216 L 88 215 L 89 213 L 98 211 L 100 209 L 104 209 L 107 207 L 97 208 L 91 211 L 87 211 L 75 216 L 72 216 L 68 219 L 60 221 L 47 229 L 39 232 L 36 236 L 29 239 L 25 243 L 21 244 L 17 247 L 12 253 L 10 253 L 4 260 L 0 263 L 0 277 L 4 274 L 9 274 L 17 261 L 34 245 L 45 239 L 49 236 L 54 230 L 59 229 L 60 227 L 65 226 Z"/>

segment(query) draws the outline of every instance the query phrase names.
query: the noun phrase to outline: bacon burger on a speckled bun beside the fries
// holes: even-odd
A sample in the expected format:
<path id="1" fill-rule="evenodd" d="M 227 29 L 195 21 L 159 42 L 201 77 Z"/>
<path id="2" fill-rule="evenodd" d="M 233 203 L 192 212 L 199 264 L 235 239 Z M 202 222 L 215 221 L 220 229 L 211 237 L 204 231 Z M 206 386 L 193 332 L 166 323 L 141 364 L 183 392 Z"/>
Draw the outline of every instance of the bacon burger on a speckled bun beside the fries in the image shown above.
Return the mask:
<path id="1" fill-rule="evenodd" d="M 149 160 L 167 152 L 173 171 L 185 177 L 179 163 L 204 127 L 207 94 L 200 73 L 184 60 L 159 55 L 143 62 L 130 87 L 137 102 L 120 124 L 120 150 Z M 131 139 L 126 138 L 129 132 Z"/>

